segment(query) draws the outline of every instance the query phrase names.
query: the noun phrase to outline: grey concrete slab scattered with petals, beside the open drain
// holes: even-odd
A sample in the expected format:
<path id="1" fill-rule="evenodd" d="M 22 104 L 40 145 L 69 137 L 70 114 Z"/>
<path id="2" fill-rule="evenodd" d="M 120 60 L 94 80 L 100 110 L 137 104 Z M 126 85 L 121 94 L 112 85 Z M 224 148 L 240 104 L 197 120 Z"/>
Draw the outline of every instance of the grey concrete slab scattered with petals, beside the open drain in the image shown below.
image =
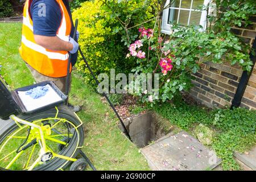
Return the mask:
<path id="1" fill-rule="evenodd" d="M 141 152 L 150 168 L 157 171 L 211 170 L 221 163 L 213 151 L 185 131 L 159 139 Z"/>

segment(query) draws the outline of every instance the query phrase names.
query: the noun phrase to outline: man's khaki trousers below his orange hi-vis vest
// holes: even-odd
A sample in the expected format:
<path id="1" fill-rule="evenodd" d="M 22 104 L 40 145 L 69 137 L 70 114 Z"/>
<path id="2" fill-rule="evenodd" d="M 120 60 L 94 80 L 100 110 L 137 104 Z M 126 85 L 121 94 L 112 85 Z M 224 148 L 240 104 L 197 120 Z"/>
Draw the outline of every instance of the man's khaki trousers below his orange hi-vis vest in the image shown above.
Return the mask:
<path id="1" fill-rule="evenodd" d="M 66 88 L 66 78 L 67 77 L 61 77 L 61 78 L 52 78 L 48 76 L 44 76 L 38 71 L 36 71 L 34 68 L 32 68 L 30 65 L 27 65 L 27 68 L 30 70 L 32 76 L 35 78 L 35 81 L 38 82 L 43 82 L 43 81 L 52 81 L 57 85 L 57 87 L 65 93 L 65 88 Z M 71 90 L 71 75 L 69 76 L 69 92 Z"/>

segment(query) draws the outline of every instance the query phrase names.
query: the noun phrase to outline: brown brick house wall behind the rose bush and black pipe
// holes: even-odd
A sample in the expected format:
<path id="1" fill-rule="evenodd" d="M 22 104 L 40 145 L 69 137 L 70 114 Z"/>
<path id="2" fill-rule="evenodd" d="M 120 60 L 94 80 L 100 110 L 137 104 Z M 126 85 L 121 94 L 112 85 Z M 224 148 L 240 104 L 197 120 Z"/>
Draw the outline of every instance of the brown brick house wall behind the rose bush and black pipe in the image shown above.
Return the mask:
<path id="1" fill-rule="evenodd" d="M 254 23 L 250 26 L 233 27 L 231 31 L 252 46 L 256 36 L 256 16 L 251 21 Z M 194 75 L 196 80 L 192 82 L 195 86 L 190 94 L 209 107 L 230 107 L 241 75 L 242 69 L 239 65 L 212 62 L 201 64 L 200 71 Z M 256 110 L 256 65 L 243 94 L 241 107 Z"/>

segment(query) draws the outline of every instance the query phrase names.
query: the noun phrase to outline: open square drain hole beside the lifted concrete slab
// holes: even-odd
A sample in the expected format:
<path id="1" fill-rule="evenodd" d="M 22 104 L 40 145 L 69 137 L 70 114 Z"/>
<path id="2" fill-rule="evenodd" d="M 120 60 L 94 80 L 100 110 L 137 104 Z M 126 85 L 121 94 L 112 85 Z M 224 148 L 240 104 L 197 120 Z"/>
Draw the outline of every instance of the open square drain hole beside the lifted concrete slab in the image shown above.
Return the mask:
<path id="1" fill-rule="evenodd" d="M 174 129 L 169 121 L 159 117 L 153 111 L 134 115 L 133 117 L 126 118 L 123 122 L 133 143 L 140 148 L 162 138 Z M 119 125 L 119 129 L 123 130 L 122 126 Z"/>

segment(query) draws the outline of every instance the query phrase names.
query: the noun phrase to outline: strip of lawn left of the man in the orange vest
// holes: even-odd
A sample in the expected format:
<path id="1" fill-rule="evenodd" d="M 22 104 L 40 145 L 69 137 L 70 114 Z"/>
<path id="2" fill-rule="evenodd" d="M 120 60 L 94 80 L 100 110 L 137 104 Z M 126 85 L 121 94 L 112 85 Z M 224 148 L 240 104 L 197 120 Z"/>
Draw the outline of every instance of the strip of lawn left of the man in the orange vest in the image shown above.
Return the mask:
<path id="1" fill-rule="evenodd" d="M 0 23 L 0 30 L 0 65 L 3 66 L 1 75 L 11 88 L 31 85 L 34 79 L 18 52 L 21 23 Z"/>

